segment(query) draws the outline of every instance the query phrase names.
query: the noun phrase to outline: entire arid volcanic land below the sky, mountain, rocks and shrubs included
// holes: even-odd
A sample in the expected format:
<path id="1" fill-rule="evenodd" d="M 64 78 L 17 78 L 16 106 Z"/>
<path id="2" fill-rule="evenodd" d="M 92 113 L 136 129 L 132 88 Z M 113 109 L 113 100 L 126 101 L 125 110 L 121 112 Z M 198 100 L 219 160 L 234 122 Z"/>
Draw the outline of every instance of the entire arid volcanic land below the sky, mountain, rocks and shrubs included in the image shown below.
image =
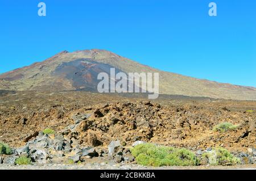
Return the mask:
<path id="1" fill-rule="evenodd" d="M 111 68 L 159 73 L 159 98 L 98 93 L 99 73 L 109 77 Z M 139 81 L 130 86 L 144 90 Z M 255 87 L 161 71 L 107 50 L 63 51 L 0 75 L 0 167 L 255 168 L 255 110 Z"/>

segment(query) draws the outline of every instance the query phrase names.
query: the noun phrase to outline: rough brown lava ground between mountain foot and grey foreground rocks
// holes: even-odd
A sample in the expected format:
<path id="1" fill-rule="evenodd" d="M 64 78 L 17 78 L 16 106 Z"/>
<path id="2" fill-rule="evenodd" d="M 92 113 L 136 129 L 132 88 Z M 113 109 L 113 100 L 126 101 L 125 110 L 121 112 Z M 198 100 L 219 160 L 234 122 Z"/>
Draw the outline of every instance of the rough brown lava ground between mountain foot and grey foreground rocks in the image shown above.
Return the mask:
<path id="1" fill-rule="evenodd" d="M 254 110 L 253 112 L 246 112 Z M 175 99 L 166 96 L 151 103 L 141 97 L 82 91 L 16 92 L 0 96 L 0 141 L 24 145 L 35 131 L 61 131 L 73 117 L 90 113 L 76 128 L 80 144 L 96 137 L 106 147 L 119 139 L 127 145 L 144 140 L 192 150 L 223 146 L 230 151 L 255 147 L 256 102 L 215 99 Z M 235 131 L 213 132 L 214 125 L 230 122 Z"/>

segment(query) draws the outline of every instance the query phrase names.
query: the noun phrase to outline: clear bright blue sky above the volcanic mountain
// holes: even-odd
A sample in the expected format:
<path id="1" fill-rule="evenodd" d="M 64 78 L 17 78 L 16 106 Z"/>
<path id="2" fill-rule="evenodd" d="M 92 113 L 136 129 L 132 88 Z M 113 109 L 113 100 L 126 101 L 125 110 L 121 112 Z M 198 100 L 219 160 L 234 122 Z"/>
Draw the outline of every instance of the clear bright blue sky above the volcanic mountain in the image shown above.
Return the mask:
<path id="1" fill-rule="evenodd" d="M 45 2 L 47 16 L 38 16 Z M 217 3 L 217 17 L 208 4 Z M 158 69 L 256 87 L 256 1 L 0 0 L 0 73 L 61 50 L 106 49 Z"/>

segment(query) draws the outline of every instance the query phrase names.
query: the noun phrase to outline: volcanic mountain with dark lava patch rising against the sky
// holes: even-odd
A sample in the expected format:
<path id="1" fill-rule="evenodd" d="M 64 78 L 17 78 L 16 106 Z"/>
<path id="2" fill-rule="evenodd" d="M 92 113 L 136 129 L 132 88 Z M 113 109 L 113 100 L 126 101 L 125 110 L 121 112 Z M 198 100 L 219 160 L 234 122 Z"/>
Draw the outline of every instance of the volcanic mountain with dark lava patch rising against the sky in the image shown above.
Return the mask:
<path id="1" fill-rule="evenodd" d="M 110 68 L 129 72 L 159 72 L 160 94 L 206 96 L 211 98 L 256 100 L 256 88 L 230 85 L 160 71 L 106 50 L 60 52 L 43 62 L 0 75 L 5 90 L 96 90 L 97 74 Z"/>

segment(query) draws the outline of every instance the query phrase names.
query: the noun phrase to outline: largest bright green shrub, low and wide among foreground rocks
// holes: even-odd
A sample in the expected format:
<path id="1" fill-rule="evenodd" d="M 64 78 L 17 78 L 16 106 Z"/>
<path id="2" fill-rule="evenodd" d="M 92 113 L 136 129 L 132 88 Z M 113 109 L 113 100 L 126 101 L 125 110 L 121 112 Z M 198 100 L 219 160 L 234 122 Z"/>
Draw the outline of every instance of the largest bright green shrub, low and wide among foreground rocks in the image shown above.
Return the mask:
<path id="1" fill-rule="evenodd" d="M 194 166 L 196 155 L 187 149 L 140 144 L 131 149 L 137 163 L 144 166 Z"/>

